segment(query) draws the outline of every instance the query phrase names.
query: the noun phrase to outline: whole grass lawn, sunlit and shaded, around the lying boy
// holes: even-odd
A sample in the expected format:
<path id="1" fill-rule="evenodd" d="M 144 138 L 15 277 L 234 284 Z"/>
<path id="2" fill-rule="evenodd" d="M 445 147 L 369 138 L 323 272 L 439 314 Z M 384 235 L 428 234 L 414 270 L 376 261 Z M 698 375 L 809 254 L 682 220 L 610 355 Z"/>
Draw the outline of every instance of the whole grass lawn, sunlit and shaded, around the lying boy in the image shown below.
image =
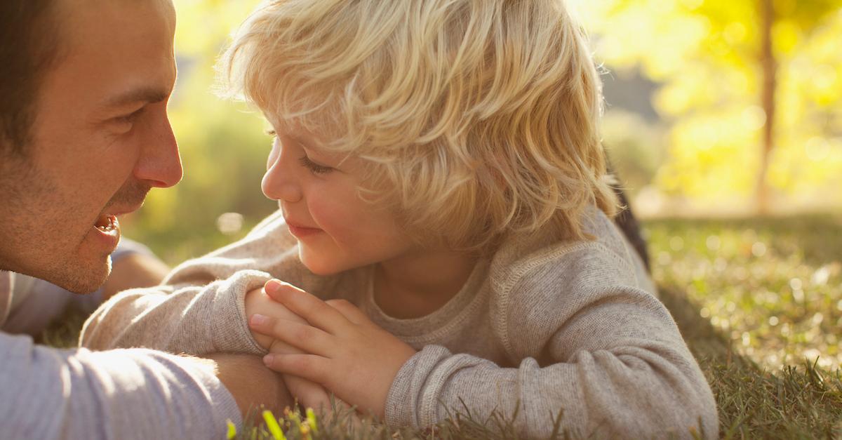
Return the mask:
<path id="1" fill-rule="evenodd" d="M 717 398 L 723 438 L 842 437 L 842 215 L 644 223 L 661 299 Z M 156 248 L 152 244 L 153 249 Z M 205 250 L 190 251 L 198 255 Z M 79 320 L 45 336 L 72 341 Z M 288 411 L 286 438 L 430 438 Z M 301 427 L 306 427 L 303 431 Z M 564 438 L 562 427 L 559 438 Z M 265 423 L 239 438 L 274 438 Z M 511 438 L 507 417 L 455 417 L 438 438 Z"/>

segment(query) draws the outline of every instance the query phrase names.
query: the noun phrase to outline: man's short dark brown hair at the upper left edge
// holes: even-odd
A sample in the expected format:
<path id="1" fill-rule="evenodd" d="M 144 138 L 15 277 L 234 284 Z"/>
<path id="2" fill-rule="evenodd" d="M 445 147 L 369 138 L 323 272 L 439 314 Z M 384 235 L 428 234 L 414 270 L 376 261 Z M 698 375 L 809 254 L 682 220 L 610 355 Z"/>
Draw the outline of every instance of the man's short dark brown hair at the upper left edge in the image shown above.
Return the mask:
<path id="1" fill-rule="evenodd" d="M 56 0 L 0 1 L 0 153 L 25 153 L 38 91 L 56 61 Z"/>

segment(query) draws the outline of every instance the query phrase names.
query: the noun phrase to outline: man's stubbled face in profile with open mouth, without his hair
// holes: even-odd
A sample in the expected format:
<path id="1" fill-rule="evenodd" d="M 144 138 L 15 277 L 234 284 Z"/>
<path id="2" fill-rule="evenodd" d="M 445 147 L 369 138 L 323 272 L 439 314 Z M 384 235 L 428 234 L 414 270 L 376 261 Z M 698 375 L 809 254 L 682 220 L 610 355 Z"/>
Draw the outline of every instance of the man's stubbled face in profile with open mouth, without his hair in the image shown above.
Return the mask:
<path id="1" fill-rule="evenodd" d="M 57 0 L 60 57 L 24 157 L 0 156 L 0 269 L 90 292 L 110 271 L 115 216 L 181 180 L 167 118 L 170 0 Z"/>

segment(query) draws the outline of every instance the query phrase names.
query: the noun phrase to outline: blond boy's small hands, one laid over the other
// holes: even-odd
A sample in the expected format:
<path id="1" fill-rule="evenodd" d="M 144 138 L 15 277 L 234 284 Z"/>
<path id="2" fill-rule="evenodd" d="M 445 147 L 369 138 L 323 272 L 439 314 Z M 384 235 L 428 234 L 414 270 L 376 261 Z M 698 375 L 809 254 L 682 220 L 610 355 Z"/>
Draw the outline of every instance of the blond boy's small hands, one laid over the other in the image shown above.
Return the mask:
<path id="1" fill-rule="evenodd" d="M 330 409 L 333 393 L 362 414 L 385 416 L 386 396 L 415 350 L 343 299 L 322 301 L 271 280 L 246 295 L 254 340 L 269 351 L 264 364 L 284 373 L 301 405 Z"/>

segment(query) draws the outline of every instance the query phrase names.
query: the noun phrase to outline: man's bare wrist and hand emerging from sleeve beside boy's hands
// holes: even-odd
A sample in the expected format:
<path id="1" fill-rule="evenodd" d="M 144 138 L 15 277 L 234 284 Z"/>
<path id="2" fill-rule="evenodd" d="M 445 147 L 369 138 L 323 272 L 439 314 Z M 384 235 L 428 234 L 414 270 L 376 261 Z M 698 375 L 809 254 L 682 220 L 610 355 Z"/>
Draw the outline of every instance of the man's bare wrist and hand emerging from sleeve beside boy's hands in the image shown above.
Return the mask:
<path id="1" fill-rule="evenodd" d="M 217 353 L 207 359 L 213 364 L 210 367 L 214 368 L 216 377 L 234 396 L 243 421 L 249 410 L 258 410 L 260 405 L 272 410 L 276 416 L 293 405 L 283 378 L 266 368 L 259 356 Z M 254 416 L 259 418 L 259 411 Z"/>

